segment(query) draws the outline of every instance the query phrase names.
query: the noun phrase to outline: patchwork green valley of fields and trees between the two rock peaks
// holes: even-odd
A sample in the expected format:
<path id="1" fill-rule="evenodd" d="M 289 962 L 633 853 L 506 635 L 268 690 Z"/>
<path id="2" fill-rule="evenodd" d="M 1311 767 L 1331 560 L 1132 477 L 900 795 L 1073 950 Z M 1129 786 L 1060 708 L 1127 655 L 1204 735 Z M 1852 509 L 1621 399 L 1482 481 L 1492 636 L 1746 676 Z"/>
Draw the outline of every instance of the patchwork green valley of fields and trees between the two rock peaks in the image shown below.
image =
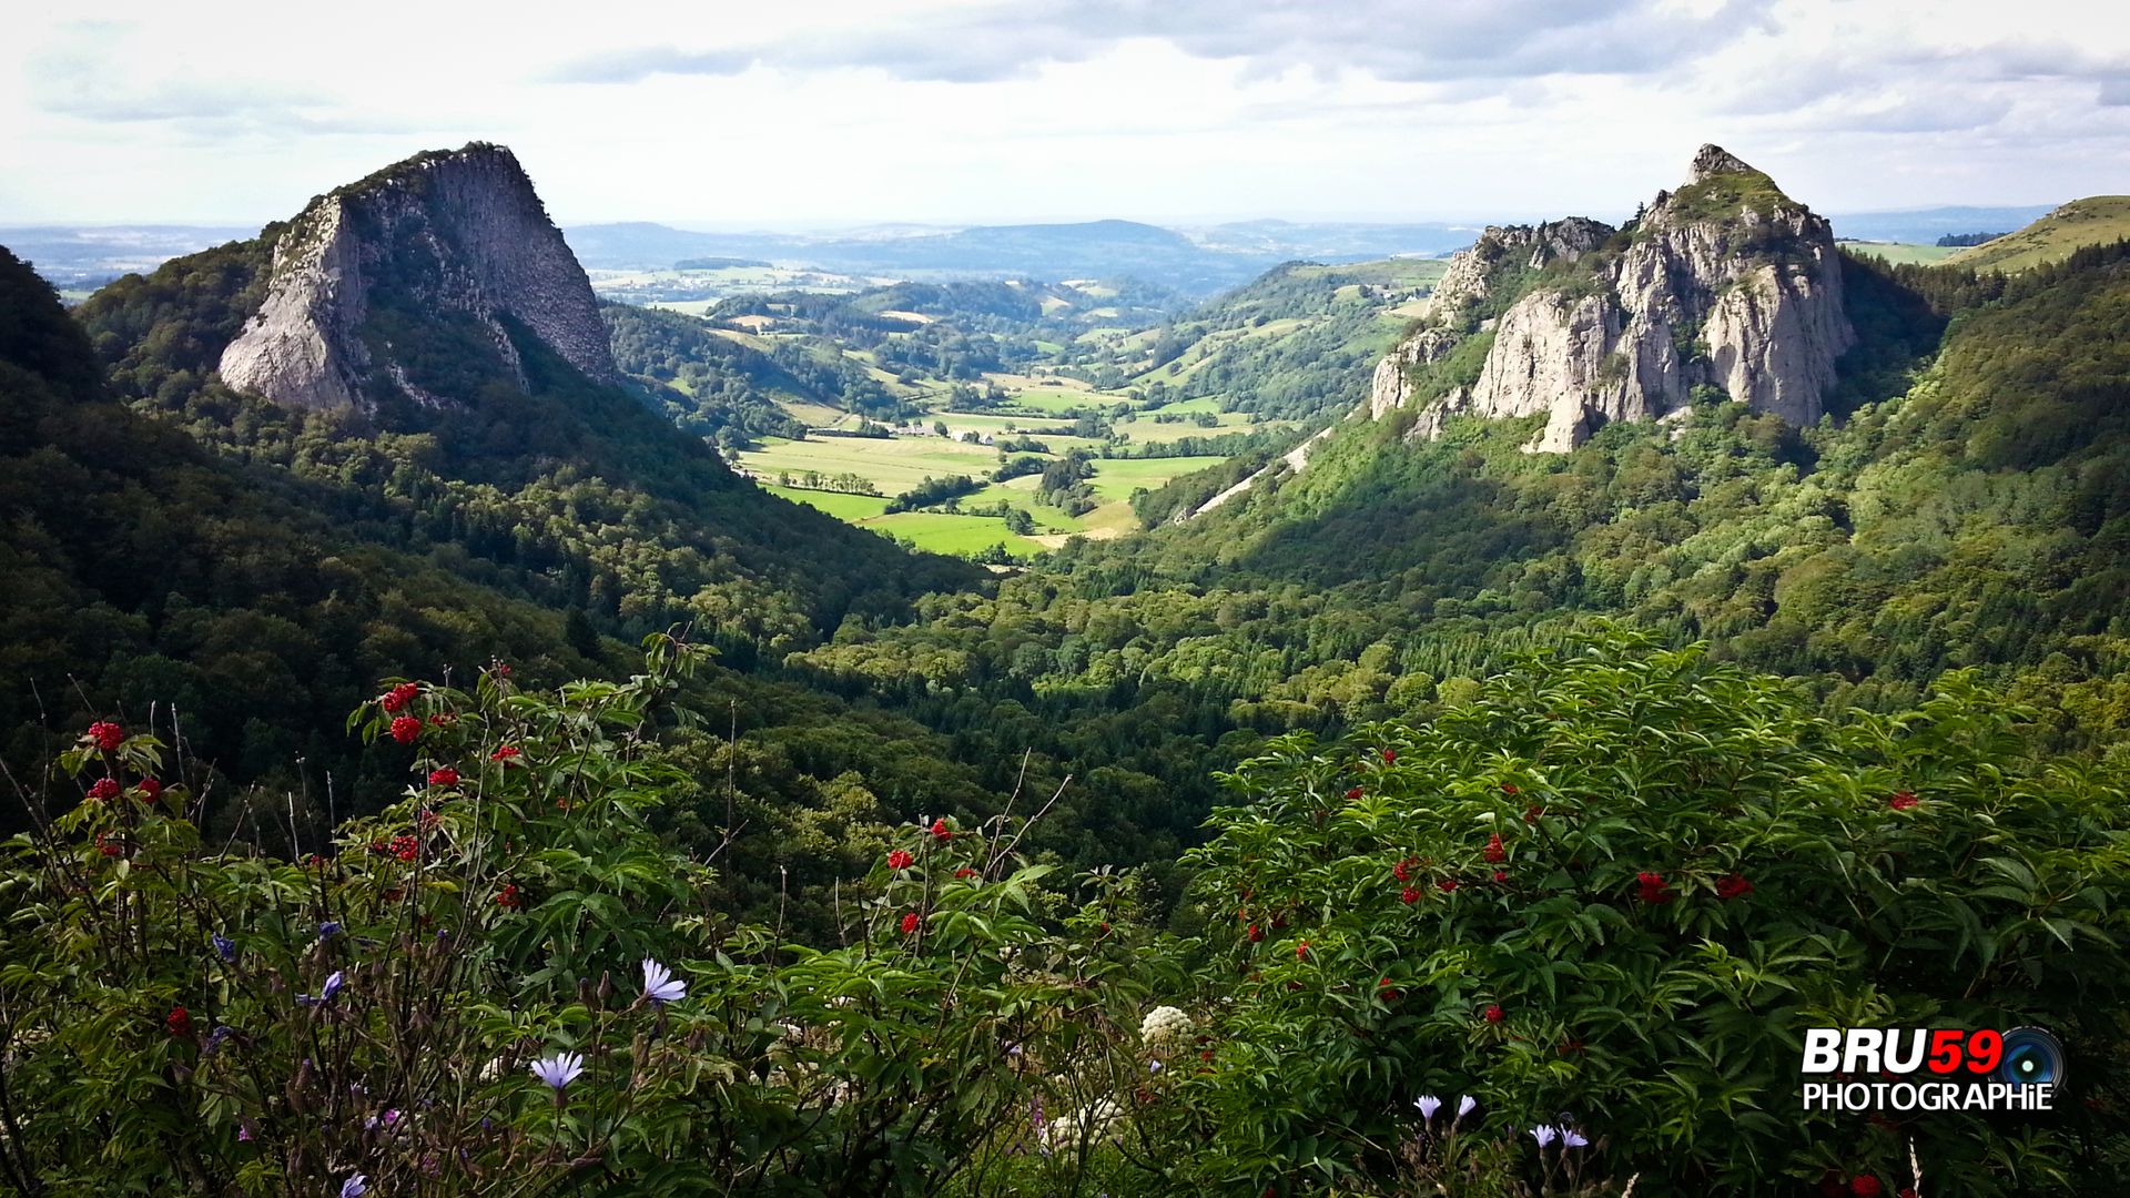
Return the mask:
<path id="1" fill-rule="evenodd" d="M 605 313 L 622 367 L 746 475 L 920 550 L 1010 563 L 1131 531 L 1133 495 L 1291 446 L 1350 401 L 1355 362 L 1440 273 L 1291 264 L 1186 311 L 1129 284 L 1003 281 Z M 1242 377 L 1280 399 L 1223 386 Z M 1078 477 L 1046 482 L 1054 465 Z M 850 501 L 954 477 L 973 486 L 920 512 Z"/>

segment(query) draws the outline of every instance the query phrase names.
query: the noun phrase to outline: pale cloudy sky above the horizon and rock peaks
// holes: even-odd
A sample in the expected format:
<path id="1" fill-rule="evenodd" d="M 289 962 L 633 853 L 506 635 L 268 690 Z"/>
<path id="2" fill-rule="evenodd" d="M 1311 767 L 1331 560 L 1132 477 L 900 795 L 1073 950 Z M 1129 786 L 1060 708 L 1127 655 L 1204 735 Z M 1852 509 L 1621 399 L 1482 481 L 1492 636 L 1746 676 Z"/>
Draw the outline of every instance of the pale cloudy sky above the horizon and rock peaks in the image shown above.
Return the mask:
<path id="1" fill-rule="evenodd" d="M 1617 215 L 1704 141 L 1819 211 L 2130 192 L 2119 0 L 92 0 L 6 26 L 0 224 L 258 224 L 471 139 L 564 224 Z"/>

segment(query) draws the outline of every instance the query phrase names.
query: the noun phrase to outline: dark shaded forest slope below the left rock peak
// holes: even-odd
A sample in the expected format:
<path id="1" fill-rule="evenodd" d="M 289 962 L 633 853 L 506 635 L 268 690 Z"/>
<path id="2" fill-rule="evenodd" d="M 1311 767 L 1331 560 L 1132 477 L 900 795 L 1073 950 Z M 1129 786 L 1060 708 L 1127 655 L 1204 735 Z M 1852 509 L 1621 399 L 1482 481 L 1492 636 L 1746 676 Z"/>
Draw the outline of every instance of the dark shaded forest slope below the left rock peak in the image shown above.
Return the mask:
<path id="1" fill-rule="evenodd" d="M 490 394 L 492 424 L 403 433 L 230 392 L 200 362 L 234 328 L 245 252 L 115 284 L 79 322 L 6 262 L 0 721 L 19 776 L 77 716 L 153 716 L 181 733 L 204 821 L 285 851 L 398 791 L 398 767 L 341 721 L 381 678 L 490 661 L 535 684 L 616 674 L 626 642 L 675 627 L 722 667 L 690 695 L 699 791 L 669 831 L 709 851 L 739 829 L 741 910 L 784 902 L 822 927 L 837 870 L 892 821 L 1067 776 L 1031 846 L 1159 863 L 1191 838 L 1233 752 L 1180 686 L 1037 697 L 961 652 L 939 671 L 952 686 L 786 667 L 790 650 L 922 620 L 937 601 L 912 597 L 978 576 L 756 492 L 633 396 L 556 369 L 552 390 Z M 577 465 L 596 460 L 611 473 Z"/>

